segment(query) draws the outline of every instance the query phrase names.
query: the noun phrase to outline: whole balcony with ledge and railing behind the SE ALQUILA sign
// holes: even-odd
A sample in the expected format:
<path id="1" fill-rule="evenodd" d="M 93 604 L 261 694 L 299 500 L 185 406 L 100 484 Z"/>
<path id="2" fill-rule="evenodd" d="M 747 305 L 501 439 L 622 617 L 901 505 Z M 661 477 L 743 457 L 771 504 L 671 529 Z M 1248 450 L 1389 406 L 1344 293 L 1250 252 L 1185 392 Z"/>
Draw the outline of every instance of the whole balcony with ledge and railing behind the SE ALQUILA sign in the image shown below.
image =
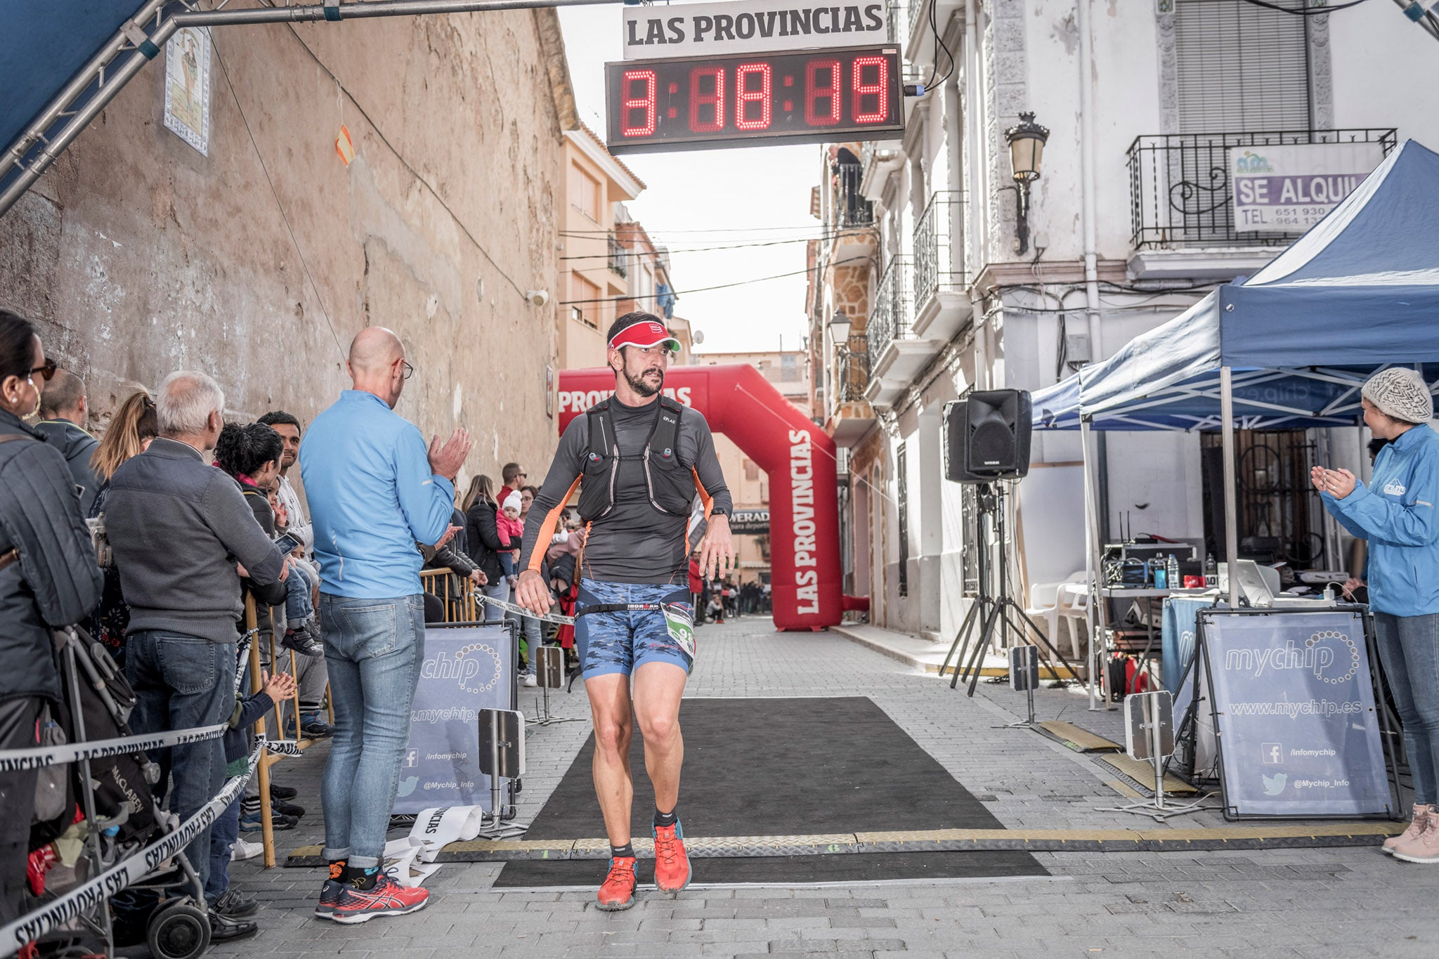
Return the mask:
<path id="1" fill-rule="evenodd" d="M 1394 129 L 1164 134 L 1130 145 L 1130 220 L 1135 276 L 1215 279 L 1252 272 L 1302 233 L 1235 227 L 1229 151 L 1245 147 L 1377 142 L 1387 154 Z M 1200 256 L 1194 250 L 1225 250 Z M 1168 265 L 1168 266 L 1166 266 Z"/>

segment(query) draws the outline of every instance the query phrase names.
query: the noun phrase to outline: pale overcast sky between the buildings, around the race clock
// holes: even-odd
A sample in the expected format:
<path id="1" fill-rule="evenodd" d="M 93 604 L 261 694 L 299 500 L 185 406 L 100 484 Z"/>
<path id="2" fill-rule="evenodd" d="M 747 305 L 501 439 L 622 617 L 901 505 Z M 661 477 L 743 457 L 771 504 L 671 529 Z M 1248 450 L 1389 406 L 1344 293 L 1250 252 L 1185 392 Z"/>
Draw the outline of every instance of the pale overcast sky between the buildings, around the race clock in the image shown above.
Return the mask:
<path id="1" fill-rule="evenodd" d="M 604 63 L 620 59 L 620 4 L 561 7 L 570 79 L 580 118 L 604 139 Z M 675 313 L 704 332 L 699 352 L 797 349 L 804 335 L 804 243 L 819 236 L 809 214 L 822 147 L 750 147 L 629 154 L 646 190 L 627 204 L 656 243 L 672 252 Z M 796 240 L 777 243 L 777 240 Z M 770 243 L 725 250 L 702 247 Z M 694 252 L 686 252 L 694 250 Z M 751 282 L 777 273 L 786 279 Z M 744 280 L 707 293 L 685 290 Z"/>

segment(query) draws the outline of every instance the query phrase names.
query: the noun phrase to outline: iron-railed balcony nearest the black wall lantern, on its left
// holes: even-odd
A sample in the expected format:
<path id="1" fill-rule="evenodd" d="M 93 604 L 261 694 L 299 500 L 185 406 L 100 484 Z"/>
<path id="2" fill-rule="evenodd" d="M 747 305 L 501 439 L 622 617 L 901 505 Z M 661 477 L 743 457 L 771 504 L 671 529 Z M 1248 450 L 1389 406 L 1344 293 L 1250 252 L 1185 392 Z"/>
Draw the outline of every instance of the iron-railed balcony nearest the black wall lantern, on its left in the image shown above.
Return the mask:
<path id="1" fill-rule="evenodd" d="M 930 197 L 914 230 L 914 335 L 948 341 L 964 326 L 973 305 L 964 286 L 964 194 L 940 190 Z"/>

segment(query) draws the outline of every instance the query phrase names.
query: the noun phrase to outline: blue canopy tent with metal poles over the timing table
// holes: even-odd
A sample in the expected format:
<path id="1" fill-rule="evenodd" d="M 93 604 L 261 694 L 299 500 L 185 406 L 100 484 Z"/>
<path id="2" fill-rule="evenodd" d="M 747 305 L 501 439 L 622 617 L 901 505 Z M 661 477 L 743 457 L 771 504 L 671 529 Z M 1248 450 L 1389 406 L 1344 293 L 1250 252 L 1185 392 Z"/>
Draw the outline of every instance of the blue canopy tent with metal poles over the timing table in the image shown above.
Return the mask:
<path id="1" fill-rule="evenodd" d="M 1394 364 L 1439 391 L 1439 154 L 1412 139 L 1258 273 L 1035 393 L 1033 426 L 1085 433 L 1091 561 L 1088 431 L 1220 428 L 1233 568 L 1235 424 L 1356 426 L 1364 380 Z"/>

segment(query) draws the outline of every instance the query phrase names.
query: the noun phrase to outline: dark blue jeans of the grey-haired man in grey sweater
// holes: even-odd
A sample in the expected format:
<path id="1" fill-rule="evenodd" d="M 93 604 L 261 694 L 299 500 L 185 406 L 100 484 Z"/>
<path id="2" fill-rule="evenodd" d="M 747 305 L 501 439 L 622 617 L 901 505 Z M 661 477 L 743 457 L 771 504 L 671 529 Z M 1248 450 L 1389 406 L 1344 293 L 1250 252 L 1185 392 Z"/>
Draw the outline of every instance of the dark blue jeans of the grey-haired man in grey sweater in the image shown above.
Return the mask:
<path id="1" fill-rule="evenodd" d="M 193 729 L 224 722 L 235 709 L 235 643 L 212 643 L 164 630 L 131 633 L 125 643 L 125 679 L 135 689 L 130 725 L 135 735 Z M 224 785 L 220 739 L 155 749 L 160 789 L 174 778 L 170 811 L 181 822 L 200 811 Z M 206 883 L 210 876 L 210 830 L 186 847 L 190 866 Z"/>

